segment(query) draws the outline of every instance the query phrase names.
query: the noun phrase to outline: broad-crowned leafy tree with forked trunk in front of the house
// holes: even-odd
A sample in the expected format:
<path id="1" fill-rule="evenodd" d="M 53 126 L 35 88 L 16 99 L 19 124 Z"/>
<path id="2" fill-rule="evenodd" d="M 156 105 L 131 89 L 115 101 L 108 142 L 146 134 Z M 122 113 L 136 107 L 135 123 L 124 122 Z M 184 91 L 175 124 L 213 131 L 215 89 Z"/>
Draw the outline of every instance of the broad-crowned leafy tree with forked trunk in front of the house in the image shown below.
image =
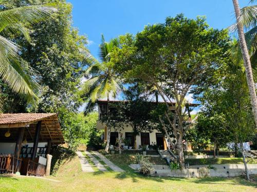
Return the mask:
<path id="1" fill-rule="evenodd" d="M 119 62 L 117 69 L 128 82 L 140 79 L 158 89 L 166 103 L 163 118 L 172 128 L 168 134 L 176 138 L 183 165 L 182 140 L 191 124 L 190 108 L 183 107 L 185 97 L 196 88 L 200 92 L 225 62 L 228 32 L 209 28 L 203 17 L 194 20 L 177 15 L 168 17 L 164 24 L 146 26 L 135 37 L 122 38 L 122 49 L 113 53 Z M 173 99 L 176 104 L 172 104 Z"/>

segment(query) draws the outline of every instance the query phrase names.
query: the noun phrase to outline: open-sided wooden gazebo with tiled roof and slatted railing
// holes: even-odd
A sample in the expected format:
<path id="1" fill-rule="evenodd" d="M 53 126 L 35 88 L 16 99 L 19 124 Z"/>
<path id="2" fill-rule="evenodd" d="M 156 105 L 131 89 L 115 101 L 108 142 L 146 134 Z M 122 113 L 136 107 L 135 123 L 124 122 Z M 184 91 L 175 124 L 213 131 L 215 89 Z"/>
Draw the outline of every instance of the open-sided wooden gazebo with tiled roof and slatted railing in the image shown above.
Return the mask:
<path id="1" fill-rule="evenodd" d="M 32 142 L 31 156 L 22 157 L 22 142 Z M 45 166 L 39 164 L 38 143 L 47 142 L 46 154 L 52 144 L 64 143 L 56 113 L 0 114 L 0 143 L 15 143 L 13 154 L 0 154 L 0 173 L 17 172 L 43 176 Z"/>

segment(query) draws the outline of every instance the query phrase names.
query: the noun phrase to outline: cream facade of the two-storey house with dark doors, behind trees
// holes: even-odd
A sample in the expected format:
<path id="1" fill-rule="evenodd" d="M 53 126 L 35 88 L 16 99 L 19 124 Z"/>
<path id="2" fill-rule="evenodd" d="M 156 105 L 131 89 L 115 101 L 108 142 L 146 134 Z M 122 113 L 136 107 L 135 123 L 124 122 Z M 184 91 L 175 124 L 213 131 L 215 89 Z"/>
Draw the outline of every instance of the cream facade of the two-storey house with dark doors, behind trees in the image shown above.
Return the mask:
<path id="1" fill-rule="evenodd" d="M 109 101 L 109 102 L 121 102 L 121 101 Z M 107 140 L 107 126 L 101 122 L 101 117 L 106 114 L 107 112 L 107 101 L 106 100 L 98 100 L 98 114 L 99 114 L 99 120 L 97 122 L 97 129 L 98 130 L 104 130 L 103 139 L 104 141 Z M 172 103 L 174 104 L 174 103 Z M 195 104 L 191 104 L 192 106 L 196 106 Z M 174 108 L 172 105 L 170 106 L 171 110 Z M 110 109 L 111 111 L 111 109 Z M 123 125 L 123 129 L 121 129 L 119 132 L 117 132 L 116 129 L 111 129 L 111 139 L 110 139 L 110 145 L 118 146 L 118 140 L 120 138 L 123 138 L 122 140 L 127 140 L 128 142 L 128 148 L 130 149 L 140 149 L 142 145 L 157 145 L 159 150 L 167 150 L 170 147 L 170 143 L 165 137 L 163 133 L 161 133 L 159 130 L 153 130 L 152 132 L 142 131 L 138 135 L 133 134 L 133 127 L 131 124 L 125 124 Z M 186 142 L 185 142 L 186 144 Z M 124 145 L 124 143 L 122 144 Z M 191 150 L 190 147 L 185 145 L 185 150 Z"/>

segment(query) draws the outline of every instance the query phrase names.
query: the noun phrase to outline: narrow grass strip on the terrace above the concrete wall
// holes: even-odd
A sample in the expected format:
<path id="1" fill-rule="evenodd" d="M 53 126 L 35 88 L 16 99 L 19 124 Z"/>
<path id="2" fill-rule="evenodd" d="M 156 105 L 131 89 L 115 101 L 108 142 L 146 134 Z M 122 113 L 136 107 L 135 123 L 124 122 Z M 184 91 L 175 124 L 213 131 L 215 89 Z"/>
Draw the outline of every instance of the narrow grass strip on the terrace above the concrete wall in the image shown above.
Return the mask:
<path id="1" fill-rule="evenodd" d="M 248 163 L 257 163 L 248 158 Z M 210 158 L 210 159 L 186 159 L 189 165 L 209 165 L 209 164 L 243 164 L 243 158 Z"/>

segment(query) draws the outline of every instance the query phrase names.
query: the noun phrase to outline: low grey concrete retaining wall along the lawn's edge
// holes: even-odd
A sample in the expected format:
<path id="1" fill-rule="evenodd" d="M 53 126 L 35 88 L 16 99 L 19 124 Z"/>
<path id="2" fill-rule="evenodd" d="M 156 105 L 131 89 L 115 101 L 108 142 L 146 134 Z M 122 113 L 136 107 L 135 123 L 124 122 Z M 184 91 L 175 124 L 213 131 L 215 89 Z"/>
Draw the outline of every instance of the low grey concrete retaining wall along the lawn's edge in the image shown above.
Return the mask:
<path id="1" fill-rule="evenodd" d="M 196 167 L 191 167 L 183 170 L 171 170 L 168 165 L 153 165 L 154 172 L 151 176 L 158 177 L 199 177 L 199 168 L 207 167 L 208 165 L 194 165 Z M 131 168 L 140 168 L 139 164 L 131 164 Z M 213 165 L 216 169 L 210 169 L 210 177 L 238 177 L 241 176 L 245 171 L 244 164 L 220 164 Z M 225 167 L 225 168 L 224 168 Z M 257 174 L 257 164 L 248 164 L 248 169 L 250 174 Z"/>

